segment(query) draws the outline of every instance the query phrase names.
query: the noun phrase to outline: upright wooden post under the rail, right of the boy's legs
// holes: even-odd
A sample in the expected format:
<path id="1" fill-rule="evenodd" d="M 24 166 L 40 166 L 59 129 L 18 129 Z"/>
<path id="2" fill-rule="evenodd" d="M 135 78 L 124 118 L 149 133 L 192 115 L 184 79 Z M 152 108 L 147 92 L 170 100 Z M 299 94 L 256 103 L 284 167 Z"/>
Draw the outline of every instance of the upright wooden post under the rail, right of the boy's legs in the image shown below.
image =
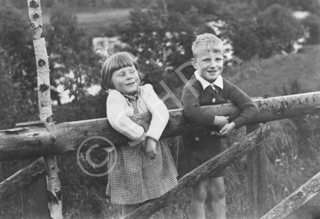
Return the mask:
<path id="1" fill-rule="evenodd" d="M 246 133 L 259 128 L 259 125 L 246 126 Z M 247 154 L 248 186 L 249 186 L 249 216 L 258 219 L 266 213 L 266 154 L 265 144 L 257 146 Z"/>

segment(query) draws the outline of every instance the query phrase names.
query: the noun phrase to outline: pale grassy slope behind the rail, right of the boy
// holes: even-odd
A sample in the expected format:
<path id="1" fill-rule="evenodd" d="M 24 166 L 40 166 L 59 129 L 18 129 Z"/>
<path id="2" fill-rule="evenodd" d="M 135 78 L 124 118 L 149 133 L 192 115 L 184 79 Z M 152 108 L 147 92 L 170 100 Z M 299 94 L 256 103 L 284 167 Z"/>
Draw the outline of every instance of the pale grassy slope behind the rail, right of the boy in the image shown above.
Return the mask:
<path id="1" fill-rule="evenodd" d="M 225 75 L 251 97 L 320 91 L 320 46 L 235 65 Z"/>

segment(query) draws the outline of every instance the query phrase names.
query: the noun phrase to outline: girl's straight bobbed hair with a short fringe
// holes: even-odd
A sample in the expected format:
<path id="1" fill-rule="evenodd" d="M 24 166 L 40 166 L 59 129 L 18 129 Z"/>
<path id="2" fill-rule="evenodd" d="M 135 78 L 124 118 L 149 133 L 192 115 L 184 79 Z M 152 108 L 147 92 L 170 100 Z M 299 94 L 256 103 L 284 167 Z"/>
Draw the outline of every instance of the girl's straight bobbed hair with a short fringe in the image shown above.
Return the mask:
<path id="1" fill-rule="evenodd" d="M 138 63 L 134 55 L 128 52 L 119 52 L 109 56 L 102 66 L 101 78 L 107 89 L 114 89 L 112 82 L 112 74 L 122 68 L 134 66 L 138 71 L 140 80 L 142 75 L 139 72 Z"/>

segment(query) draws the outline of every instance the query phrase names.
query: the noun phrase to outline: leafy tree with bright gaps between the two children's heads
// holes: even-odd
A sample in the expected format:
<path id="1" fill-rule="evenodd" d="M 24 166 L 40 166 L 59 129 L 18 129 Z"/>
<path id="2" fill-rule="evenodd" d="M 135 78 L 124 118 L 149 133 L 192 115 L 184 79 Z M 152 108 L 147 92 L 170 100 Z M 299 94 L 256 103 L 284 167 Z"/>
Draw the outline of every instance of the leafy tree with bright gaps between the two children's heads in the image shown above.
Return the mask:
<path id="1" fill-rule="evenodd" d="M 205 26 L 195 8 L 191 8 L 188 15 L 183 15 L 168 10 L 161 2 L 157 3 L 148 8 L 135 8 L 131 12 L 130 22 L 120 27 L 119 35 L 129 46 L 126 50 L 139 58 L 143 70 L 148 70 L 144 72 L 147 74 L 145 80 L 159 91 L 157 86 L 162 78 L 176 78 L 165 81 L 169 87 L 181 83 L 175 73 L 164 70 L 177 69 L 190 60 L 194 36 L 213 31 Z M 186 73 L 192 71 L 187 69 Z"/>

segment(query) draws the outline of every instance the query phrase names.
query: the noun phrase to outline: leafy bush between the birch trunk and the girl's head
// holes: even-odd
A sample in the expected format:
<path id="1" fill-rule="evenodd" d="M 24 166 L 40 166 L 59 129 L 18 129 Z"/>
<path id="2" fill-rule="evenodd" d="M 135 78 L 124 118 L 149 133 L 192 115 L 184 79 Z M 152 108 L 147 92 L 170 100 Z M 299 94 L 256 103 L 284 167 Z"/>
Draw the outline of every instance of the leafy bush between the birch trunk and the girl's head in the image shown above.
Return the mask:
<path id="1" fill-rule="evenodd" d="M 68 9 L 57 6 L 50 19 L 51 27 L 46 35 L 51 82 L 63 85 L 76 100 L 87 95 L 86 89 L 97 84 L 101 57 L 94 53 L 92 38 L 77 28 L 76 17 Z"/>

